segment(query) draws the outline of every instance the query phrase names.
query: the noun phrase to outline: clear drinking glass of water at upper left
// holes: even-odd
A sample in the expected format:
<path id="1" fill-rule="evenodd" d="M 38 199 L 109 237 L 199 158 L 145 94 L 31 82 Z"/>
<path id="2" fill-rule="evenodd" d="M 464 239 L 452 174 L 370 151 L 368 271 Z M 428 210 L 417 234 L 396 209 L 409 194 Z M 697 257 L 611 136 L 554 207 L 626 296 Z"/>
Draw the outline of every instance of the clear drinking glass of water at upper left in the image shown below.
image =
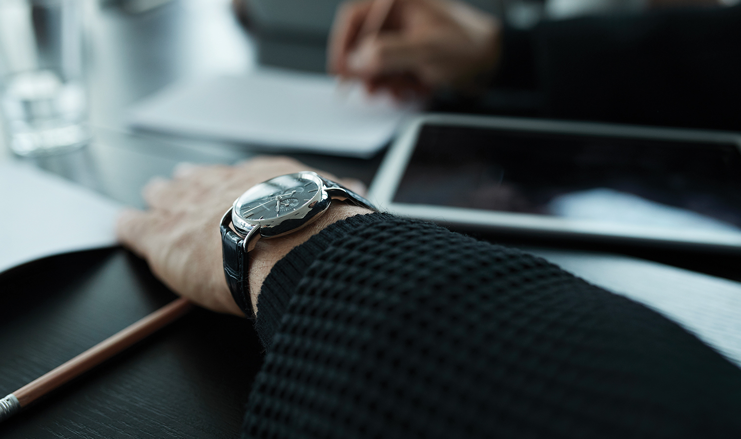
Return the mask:
<path id="1" fill-rule="evenodd" d="M 39 156 L 90 141 L 81 0 L 0 0 L 0 107 L 10 149 Z"/>

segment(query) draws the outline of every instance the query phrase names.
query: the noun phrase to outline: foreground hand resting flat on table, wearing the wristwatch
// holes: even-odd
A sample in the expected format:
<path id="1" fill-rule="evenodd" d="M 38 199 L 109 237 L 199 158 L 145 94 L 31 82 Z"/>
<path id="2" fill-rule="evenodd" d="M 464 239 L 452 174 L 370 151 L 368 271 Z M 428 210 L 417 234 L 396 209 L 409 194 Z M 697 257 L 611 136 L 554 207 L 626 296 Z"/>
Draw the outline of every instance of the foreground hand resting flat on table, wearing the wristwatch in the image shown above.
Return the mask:
<path id="1" fill-rule="evenodd" d="M 213 311 L 243 316 L 224 277 L 219 221 L 245 190 L 277 175 L 303 170 L 312 169 L 290 158 L 268 157 L 236 167 L 180 167 L 172 180 L 155 179 L 144 188 L 149 210 L 122 214 L 117 227 L 119 241 L 146 259 L 154 274 L 174 292 Z M 333 175 L 319 173 L 337 181 Z M 299 232 L 259 241 L 250 252 L 253 304 L 270 269 L 290 249 L 334 221 L 367 212 L 340 204 Z"/>

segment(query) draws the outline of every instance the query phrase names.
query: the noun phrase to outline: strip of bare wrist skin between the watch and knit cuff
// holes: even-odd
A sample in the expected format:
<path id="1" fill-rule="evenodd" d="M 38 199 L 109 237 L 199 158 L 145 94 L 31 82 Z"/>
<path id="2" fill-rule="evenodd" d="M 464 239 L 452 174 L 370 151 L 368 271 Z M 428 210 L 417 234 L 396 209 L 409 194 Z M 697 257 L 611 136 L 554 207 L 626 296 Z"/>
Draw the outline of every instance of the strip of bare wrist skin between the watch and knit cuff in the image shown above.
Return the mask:
<path id="1" fill-rule="evenodd" d="M 253 309 L 257 311 L 259 292 L 262 289 L 265 278 L 270 274 L 270 270 L 285 255 L 288 255 L 293 248 L 304 244 L 313 235 L 321 232 L 336 221 L 342 221 L 354 215 L 365 215 L 371 212 L 373 210 L 366 209 L 365 207 L 345 204 L 341 201 L 332 201 L 329 210 L 306 227 L 279 238 L 261 239 L 258 241 L 255 248 L 250 251 L 248 261 L 249 274 L 247 278 L 249 279 L 250 298 L 253 302 Z"/>

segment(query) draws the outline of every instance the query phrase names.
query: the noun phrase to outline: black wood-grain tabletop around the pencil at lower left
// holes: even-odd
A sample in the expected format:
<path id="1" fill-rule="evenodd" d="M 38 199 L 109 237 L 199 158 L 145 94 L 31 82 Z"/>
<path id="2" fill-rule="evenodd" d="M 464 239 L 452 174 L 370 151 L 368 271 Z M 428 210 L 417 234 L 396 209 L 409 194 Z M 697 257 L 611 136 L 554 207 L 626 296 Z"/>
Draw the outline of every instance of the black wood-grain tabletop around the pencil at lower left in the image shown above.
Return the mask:
<path id="1" fill-rule="evenodd" d="M 175 295 L 129 252 L 0 275 L 0 389 L 12 392 Z M 262 349 L 246 319 L 195 309 L 0 424 L 1 438 L 233 438 Z"/>

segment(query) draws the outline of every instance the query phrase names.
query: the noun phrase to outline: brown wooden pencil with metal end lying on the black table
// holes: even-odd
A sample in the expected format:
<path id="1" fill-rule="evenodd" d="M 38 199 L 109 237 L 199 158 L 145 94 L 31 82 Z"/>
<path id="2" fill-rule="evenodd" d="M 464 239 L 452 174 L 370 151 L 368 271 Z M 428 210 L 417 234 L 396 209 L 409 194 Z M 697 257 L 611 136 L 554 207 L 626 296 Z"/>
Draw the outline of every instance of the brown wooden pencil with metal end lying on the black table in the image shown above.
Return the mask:
<path id="1" fill-rule="evenodd" d="M 176 321 L 192 308 L 193 304 L 186 298 L 176 299 L 0 399 L 0 421 L 10 418 L 22 407 Z"/>

